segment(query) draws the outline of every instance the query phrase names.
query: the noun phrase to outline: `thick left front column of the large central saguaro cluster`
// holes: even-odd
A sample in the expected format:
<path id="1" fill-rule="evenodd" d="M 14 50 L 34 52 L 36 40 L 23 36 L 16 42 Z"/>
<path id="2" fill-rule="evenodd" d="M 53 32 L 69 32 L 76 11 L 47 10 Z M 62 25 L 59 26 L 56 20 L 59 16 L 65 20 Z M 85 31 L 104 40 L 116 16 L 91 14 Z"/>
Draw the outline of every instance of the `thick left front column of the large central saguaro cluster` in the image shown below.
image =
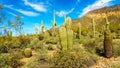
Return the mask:
<path id="1" fill-rule="evenodd" d="M 65 27 L 59 28 L 60 44 L 62 51 L 67 50 L 67 31 Z"/>

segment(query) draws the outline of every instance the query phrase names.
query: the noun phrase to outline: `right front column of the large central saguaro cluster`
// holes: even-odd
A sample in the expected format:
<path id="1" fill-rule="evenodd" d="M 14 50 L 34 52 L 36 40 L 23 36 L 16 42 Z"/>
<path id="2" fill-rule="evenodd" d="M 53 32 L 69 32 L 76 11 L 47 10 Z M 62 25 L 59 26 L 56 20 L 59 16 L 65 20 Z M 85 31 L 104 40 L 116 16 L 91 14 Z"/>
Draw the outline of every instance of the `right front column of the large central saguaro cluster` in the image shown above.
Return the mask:
<path id="1" fill-rule="evenodd" d="M 67 29 L 67 47 L 68 50 L 73 48 L 73 31 L 71 29 Z"/>

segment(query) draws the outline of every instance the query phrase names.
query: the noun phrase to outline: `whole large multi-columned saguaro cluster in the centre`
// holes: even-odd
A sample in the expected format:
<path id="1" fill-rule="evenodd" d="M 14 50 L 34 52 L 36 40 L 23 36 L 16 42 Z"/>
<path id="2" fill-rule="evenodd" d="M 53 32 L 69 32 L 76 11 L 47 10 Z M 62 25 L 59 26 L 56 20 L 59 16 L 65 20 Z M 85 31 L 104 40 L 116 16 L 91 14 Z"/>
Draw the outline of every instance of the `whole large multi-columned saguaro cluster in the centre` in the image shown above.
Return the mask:
<path id="1" fill-rule="evenodd" d="M 62 50 L 71 50 L 73 47 L 73 31 L 71 30 L 71 18 L 65 18 L 64 26 L 59 28 Z"/>

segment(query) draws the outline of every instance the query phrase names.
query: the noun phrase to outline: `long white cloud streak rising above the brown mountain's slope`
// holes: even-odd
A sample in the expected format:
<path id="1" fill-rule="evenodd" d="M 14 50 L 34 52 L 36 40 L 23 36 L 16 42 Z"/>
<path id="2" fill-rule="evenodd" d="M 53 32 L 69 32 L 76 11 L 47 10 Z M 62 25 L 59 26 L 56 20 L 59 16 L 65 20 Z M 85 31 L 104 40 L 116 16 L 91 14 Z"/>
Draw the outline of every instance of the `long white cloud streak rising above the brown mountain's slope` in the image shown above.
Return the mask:
<path id="1" fill-rule="evenodd" d="M 105 6 L 109 6 L 109 3 L 112 0 L 97 0 L 95 3 L 88 5 L 86 8 L 83 9 L 82 13 L 79 15 L 79 17 L 82 17 L 86 13 L 98 9 L 98 8 L 103 8 Z"/>

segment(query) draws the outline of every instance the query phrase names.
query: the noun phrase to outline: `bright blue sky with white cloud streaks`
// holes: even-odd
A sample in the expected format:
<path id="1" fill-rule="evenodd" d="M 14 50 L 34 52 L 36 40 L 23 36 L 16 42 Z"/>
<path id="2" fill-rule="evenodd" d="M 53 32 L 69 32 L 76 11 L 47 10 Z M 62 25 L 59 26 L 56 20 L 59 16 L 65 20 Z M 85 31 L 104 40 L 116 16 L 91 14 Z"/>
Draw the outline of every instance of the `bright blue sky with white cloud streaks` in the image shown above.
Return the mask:
<path id="1" fill-rule="evenodd" d="M 53 11 L 56 10 L 57 27 L 63 24 L 63 15 L 72 19 L 80 18 L 89 11 L 120 4 L 119 0 L 0 0 L 4 4 L 4 13 L 9 18 L 21 15 L 24 30 L 34 32 L 35 24 L 44 21 L 46 28 L 52 27 Z"/>

